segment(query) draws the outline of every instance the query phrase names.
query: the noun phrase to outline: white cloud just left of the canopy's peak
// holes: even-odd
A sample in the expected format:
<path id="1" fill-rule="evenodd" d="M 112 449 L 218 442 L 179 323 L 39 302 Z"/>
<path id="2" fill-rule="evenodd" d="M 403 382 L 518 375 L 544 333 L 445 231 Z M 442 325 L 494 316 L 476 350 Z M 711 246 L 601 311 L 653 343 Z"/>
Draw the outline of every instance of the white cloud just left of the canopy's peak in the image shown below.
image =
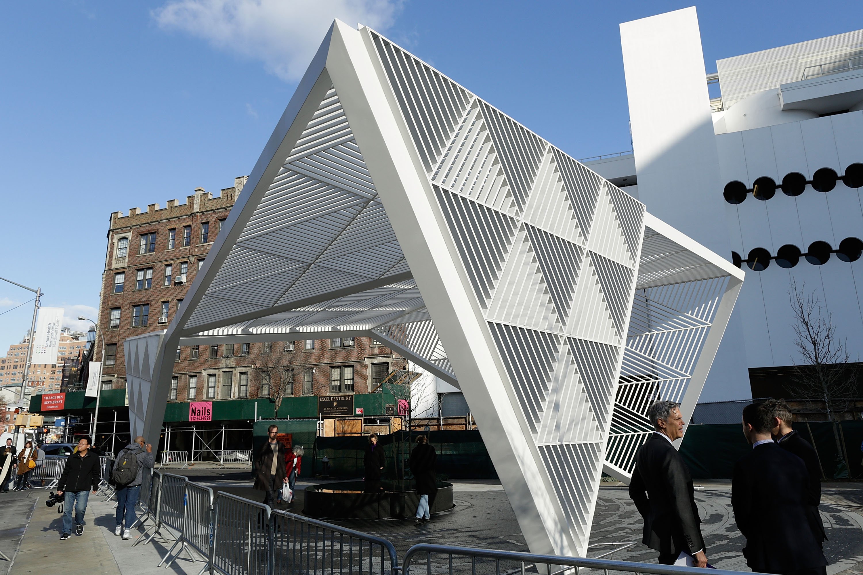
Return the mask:
<path id="1" fill-rule="evenodd" d="M 334 18 L 387 29 L 401 0 L 170 0 L 152 12 L 163 29 L 178 29 L 226 52 L 260 59 L 268 72 L 294 81 Z"/>

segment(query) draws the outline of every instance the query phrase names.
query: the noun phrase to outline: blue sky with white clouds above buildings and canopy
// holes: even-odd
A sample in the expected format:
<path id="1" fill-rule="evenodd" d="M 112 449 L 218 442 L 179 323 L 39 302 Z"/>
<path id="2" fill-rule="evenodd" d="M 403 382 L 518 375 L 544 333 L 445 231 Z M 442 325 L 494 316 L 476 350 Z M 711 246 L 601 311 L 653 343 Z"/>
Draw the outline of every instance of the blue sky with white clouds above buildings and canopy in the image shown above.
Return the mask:
<path id="1" fill-rule="evenodd" d="M 0 276 L 96 318 L 110 213 L 249 173 L 332 18 L 369 24 L 576 158 L 631 148 L 618 24 L 692 2 L 0 6 Z M 863 3 L 696 3 L 715 60 L 860 28 Z M 29 328 L 0 282 L 0 354 Z M 8 313 L 3 313 L 7 312 Z"/>

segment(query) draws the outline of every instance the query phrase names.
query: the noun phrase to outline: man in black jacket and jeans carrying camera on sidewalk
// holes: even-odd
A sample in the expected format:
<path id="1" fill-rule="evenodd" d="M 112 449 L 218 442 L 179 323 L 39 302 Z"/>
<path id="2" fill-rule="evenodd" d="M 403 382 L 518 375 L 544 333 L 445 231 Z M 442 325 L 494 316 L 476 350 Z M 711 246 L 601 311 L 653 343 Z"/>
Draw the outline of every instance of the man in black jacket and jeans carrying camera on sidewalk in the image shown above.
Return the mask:
<path id="1" fill-rule="evenodd" d="M 91 440 L 88 435 L 78 442 L 78 451 L 66 459 L 66 467 L 57 482 L 57 495 L 63 500 L 63 533 L 60 541 L 72 535 L 72 507 L 75 508 L 75 534 L 84 534 L 84 513 L 90 490 L 96 493 L 99 486 L 99 456 L 90 451 Z"/>

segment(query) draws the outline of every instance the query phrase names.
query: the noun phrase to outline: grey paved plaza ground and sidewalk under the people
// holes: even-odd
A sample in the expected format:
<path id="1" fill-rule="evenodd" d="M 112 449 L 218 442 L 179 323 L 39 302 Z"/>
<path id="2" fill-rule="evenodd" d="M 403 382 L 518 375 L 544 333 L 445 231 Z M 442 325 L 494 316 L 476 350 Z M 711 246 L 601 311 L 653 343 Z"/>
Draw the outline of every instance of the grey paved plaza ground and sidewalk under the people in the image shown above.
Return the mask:
<path id="1" fill-rule="evenodd" d="M 214 491 L 226 491 L 262 500 L 262 493 L 251 489 L 248 470 L 177 471 L 192 480 L 210 485 Z M 456 508 L 435 516 L 421 527 L 404 520 L 339 521 L 337 524 L 393 541 L 400 558 L 419 542 L 488 547 L 526 551 L 524 537 L 500 484 L 492 481 L 455 481 Z M 298 484 L 299 487 L 304 484 Z M 302 509 L 300 497 L 292 511 Z M 131 548 L 131 541 L 114 536 L 113 503 L 101 497 L 91 497 L 87 511 L 87 527 L 81 537 L 72 535 L 59 541 L 60 516 L 45 506 L 47 493 L 31 490 L 0 495 L 0 551 L 14 557 L 9 562 L 0 559 L 0 575 L 11 573 L 83 572 L 86 575 L 148 573 L 190 573 L 200 570 L 180 559 L 169 570 L 156 567 L 167 551 L 159 542 Z M 731 491 L 728 483 L 702 484 L 697 488 L 696 502 L 703 518 L 702 531 L 707 541 L 708 557 L 714 566 L 749 571 L 740 553 L 743 538 L 731 513 Z M 863 574 L 863 485 L 824 484 L 822 520 L 827 528 L 825 545 L 830 566 L 828 575 Z M 591 532 L 591 545 L 611 542 L 631 542 L 633 546 L 614 553 L 614 559 L 653 563 L 656 553 L 640 543 L 641 518 L 623 486 L 607 486 L 600 490 Z M 611 547 L 591 547 L 589 556 L 605 553 Z M 86 566 L 86 569 L 82 569 Z"/>

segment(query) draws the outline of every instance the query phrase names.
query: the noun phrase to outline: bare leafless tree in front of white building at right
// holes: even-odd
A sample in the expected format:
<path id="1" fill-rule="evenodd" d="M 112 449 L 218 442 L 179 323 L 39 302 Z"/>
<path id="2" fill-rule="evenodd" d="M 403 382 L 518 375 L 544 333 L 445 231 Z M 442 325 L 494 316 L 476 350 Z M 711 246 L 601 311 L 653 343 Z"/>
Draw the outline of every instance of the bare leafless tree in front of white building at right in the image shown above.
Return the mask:
<path id="1" fill-rule="evenodd" d="M 857 396 L 857 366 L 850 363 L 847 341 L 836 335 L 833 314 L 822 307 L 815 291 L 806 291 L 805 283 L 798 288 L 792 279 L 789 295 L 797 319 L 792 325 L 794 346 L 803 360 L 797 364 L 792 358 L 795 372 L 790 391 L 814 409 L 823 405 L 833 426 L 837 459 L 848 469 L 837 422 Z"/>

